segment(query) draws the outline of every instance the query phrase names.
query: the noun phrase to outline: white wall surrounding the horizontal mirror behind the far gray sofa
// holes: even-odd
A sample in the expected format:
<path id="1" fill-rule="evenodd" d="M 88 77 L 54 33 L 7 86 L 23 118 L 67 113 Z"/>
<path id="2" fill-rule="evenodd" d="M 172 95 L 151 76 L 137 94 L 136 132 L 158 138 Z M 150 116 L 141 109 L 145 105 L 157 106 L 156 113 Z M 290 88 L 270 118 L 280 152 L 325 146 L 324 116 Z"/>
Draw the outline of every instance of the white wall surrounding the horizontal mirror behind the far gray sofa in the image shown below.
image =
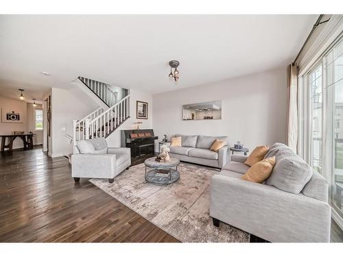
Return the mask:
<path id="1" fill-rule="evenodd" d="M 240 140 L 250 151 L 285 143 L 286 85 L 285 67 L 154 95 L 154 132 L 159 138 L 178 133 L 229 136 L 231 144 Z M 221 120 L 182 121 L 182 105 L 217 100 L 222 100 Z"/>

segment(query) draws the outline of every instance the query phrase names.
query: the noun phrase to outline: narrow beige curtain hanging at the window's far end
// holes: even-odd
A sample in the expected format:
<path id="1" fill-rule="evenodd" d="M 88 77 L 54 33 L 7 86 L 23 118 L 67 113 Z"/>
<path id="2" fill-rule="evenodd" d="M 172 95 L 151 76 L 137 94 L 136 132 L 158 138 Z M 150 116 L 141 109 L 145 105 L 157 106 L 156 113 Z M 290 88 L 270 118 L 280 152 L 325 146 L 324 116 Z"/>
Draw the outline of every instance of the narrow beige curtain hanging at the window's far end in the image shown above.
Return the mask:
<path id="1" fill-rule="evenodd" d="M 287 145 L 296 152 L 298 143 L 298 67 L 287 67 Z"/>

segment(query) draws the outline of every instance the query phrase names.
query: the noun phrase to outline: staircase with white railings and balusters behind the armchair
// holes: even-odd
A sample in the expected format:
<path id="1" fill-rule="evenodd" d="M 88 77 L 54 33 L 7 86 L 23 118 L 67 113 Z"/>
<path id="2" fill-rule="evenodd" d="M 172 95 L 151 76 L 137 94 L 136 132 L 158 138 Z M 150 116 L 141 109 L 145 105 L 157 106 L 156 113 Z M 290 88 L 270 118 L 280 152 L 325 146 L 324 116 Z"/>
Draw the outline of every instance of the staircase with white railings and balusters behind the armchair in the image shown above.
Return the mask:
<path id="1" fill-rule="evenodd" d="M 130 95 L 117 101 L 117 92 L 114 92 L 108 84 L 97 82 L 85 77 L 78 77 L 96 97 L 99 97 L 106 106 L 97 108 L 79 121 L 73 121 L 73 145 L 74 149 L 78 140 L 89 138 L 107 137 L 130 118 Z"/>

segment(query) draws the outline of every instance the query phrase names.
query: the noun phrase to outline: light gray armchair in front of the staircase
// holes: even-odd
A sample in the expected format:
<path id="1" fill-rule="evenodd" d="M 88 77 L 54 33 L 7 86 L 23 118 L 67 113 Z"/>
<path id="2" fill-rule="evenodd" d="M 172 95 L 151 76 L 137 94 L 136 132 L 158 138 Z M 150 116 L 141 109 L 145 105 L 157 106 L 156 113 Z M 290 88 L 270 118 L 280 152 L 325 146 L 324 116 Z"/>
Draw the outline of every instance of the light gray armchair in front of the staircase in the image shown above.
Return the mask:
<path id="1" fill-rule="evenodd" d="M 106 178 L 112 183 L 131 165 L 130 148 L 107 147 L 105 138 L 80 140 L 71 156 L 71 176 L 80 178 Z"/>

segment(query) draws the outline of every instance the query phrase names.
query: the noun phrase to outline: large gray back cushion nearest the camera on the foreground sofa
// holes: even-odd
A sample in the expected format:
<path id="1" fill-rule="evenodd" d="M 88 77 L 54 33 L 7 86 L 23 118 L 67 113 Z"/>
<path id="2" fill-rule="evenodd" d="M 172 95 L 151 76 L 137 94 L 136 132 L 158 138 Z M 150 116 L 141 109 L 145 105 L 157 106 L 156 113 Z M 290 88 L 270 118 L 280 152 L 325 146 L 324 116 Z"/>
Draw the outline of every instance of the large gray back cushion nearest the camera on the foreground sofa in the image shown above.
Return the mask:
<path id="1" fill-rule="evenodd" d="M 312 177 L 312 169 L 292 151 L 278 151 L 272 175 L 265 184 L 289 193 L 300 193 Z"/>

